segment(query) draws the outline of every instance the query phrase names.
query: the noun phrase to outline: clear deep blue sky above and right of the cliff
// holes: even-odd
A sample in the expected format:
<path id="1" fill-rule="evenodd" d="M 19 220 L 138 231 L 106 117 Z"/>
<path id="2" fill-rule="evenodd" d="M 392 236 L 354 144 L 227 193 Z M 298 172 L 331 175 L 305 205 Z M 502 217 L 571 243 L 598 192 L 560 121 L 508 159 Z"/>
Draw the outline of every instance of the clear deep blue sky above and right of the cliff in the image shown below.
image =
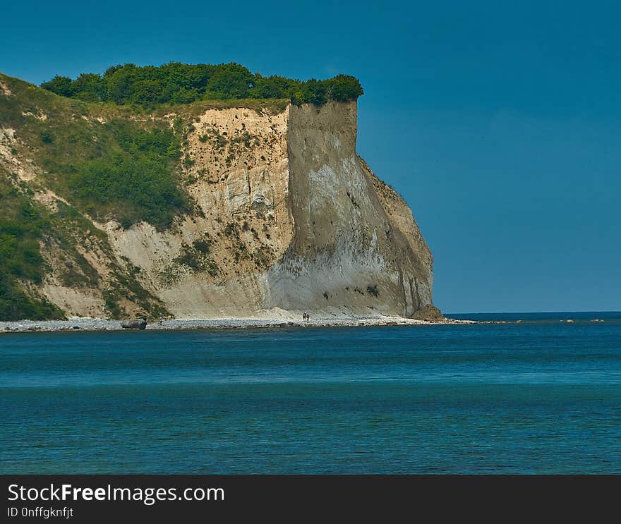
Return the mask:
<path id="1" fill-rule="evenodd" d="M 615 1 L 11 1 L 0 71 L 237 61 L 360 78 L 358 152 L 401 193 L 445 312 L 621 310 Z"/>

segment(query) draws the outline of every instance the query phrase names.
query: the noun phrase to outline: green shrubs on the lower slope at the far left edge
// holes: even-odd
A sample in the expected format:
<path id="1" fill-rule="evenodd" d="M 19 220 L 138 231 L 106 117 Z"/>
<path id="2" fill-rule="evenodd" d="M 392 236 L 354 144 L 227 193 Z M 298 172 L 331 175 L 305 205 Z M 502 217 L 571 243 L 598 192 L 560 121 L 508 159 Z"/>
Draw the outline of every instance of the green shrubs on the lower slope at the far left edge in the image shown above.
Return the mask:
<path id="1" fill-rule="evenodd" d="M 55 305 L 28 295 L 18 284 L 18 280 L 42 280 L 45 264 L 39 240 L 49 229 L 47 217 L 6 178 L 0 178 L 0 207 L 0 319 L 62 318 L 63 313 Z"/>

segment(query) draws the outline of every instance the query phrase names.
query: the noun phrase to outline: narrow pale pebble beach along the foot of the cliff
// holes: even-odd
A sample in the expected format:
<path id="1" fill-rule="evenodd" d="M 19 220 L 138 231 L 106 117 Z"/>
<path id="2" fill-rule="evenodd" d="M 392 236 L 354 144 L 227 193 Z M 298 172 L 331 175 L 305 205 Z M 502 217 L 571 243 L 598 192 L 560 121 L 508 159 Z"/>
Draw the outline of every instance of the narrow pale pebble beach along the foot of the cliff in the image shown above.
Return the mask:
<path id="1" fill-rule="evenodd" d="M 146 329 L 241 329 L 241 328 L 277 328 L 277 327 L 365 327 L 365 326 L 423 326 L 430 324 L 479 324 L 476 320 L 418 320 L 405 317 L 317 317 L 307 322 L 280 318 L 213 318 L 213 319 L 170 319 L 162 325 L 157 321 L 149 322 Z M 123 329 L 121 320 L 107 320 L 88 317 L 74 317 L 67 320 L 18 320 L 0 322 L 2 333 L 32 333 L 54 331 L 137 331 Z"/>

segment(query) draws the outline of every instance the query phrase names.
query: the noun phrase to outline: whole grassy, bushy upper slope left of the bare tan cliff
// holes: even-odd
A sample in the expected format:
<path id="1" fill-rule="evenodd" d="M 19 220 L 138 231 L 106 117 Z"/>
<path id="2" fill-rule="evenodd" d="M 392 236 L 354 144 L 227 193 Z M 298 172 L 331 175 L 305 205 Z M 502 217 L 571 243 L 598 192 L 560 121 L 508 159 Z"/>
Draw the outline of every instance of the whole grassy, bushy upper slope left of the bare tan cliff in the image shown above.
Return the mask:
<path id="1" fill-rule="evenodd" d="M 183 121 L 173 130 L 163 119 L 138 120 L 118 107 L 4 78 L 13 95 L 0 96 L 2 125 L 30 146 L 20 154 L 42 167 L 37 174 L 47 185 L 82 212 L 124 227 L 144 220 L 165 229 L 188 209 L 176 176 Z"/>

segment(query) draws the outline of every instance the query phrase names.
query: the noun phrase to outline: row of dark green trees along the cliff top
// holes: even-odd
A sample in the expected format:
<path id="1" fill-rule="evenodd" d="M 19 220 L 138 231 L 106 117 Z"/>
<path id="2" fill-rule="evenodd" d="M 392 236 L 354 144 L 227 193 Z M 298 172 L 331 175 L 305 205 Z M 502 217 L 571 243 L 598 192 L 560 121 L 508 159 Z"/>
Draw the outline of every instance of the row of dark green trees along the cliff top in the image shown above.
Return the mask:
<path id="1" fill-rule="evenodd" d="M 290 99 L 318 106 L 328 100 L 349 102 L 363 94 L 357 78 L 338 75 L 327 80 L 294 80 L 251 73 L 238 63 L 210 65 L 167 63 L 163 66 L 108 68 L 103 75 L 83 73 L 76 80 L 56 75 L 41 87 L 87 102 L 115 102 L 145 108 L 157 104 L 189 104 L 195 100 Z"/>

